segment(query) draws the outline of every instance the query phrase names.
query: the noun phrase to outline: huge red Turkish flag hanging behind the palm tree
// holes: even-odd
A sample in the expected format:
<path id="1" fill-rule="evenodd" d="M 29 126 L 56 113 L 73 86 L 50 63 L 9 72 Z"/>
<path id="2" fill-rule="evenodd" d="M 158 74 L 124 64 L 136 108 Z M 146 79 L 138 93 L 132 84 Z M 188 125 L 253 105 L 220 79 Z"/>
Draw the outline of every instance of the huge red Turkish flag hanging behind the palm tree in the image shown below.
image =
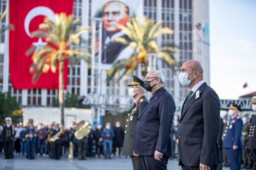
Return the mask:
<path id="1" fill-rule="evenodd" d="M 10 23 L 15 30 L 10 31 L 9 63 L 10 78 L 15 89 L 58 89 L 59 73 L 50 70 L 42 73 L 38 81 L 33 84 L 33 74 L 29 73 L 32 64 L 32 55 L 26 56 L 26 50 L 34 45 L 36 51 L 47 43 L 41 38 L 32 38 L 31 32 L 38 30 L 45 17 L 55 20 L 55 13 L 65 12 L 72 14 L 73 0 L 10 0 Z M 64 88 L 67 85 L 68 62 L 64 66 Z"/>

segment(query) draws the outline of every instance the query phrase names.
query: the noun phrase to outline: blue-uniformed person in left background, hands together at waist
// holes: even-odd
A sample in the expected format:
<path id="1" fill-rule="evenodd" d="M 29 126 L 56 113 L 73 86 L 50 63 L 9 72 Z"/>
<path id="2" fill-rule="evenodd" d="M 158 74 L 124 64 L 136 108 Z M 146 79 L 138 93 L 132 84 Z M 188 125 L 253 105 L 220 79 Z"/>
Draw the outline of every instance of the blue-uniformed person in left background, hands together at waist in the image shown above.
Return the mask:
<path id="1" fill-rule="evenodd" d="M 33 126 L 33 119 L 28 120 L 28 128 L 25 132 L 27 142 L 27 156 L 28 159 L 34 159 L 34 149 L 36 146 L 36 127 Z"/>

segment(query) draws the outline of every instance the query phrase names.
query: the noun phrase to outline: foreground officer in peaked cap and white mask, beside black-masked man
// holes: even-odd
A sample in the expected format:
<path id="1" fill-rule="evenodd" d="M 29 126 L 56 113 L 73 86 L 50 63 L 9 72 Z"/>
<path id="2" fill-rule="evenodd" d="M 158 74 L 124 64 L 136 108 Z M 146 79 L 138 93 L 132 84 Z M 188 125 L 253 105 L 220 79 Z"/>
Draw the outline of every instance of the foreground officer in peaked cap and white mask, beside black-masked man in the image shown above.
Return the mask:
<path id="1" fill-rule="evenodd" d="M 145 97 L 144 81 L 134 75 L 132 82 L 128 86 L 130 86 L 128 90 L 129 95 L 133 97 L 135 101 L 128 114 L 126 129 L 124 131 L 125 134 L 122 155 L 131 156 L 134 170 L 143 170 L 140 156 L 133 156 L 133 139 L 138 117 L 148 100 Z"/>

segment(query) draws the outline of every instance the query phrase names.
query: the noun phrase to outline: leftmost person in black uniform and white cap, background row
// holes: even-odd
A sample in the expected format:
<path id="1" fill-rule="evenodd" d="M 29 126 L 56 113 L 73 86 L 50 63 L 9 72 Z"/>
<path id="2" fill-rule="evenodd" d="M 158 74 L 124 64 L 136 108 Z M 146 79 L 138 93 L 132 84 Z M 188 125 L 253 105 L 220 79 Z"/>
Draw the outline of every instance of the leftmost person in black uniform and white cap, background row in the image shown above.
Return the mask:
<path id="1" fill-rule="evenodd" d="M 6 159 L 12 158 L 12 144 L 13 144 L 13 134 L 12 134 L 12 119 L 10 117 L 5 118 L 6 125 L 2 130 L 2 140 L 4 142 L 4 156 Z"/>

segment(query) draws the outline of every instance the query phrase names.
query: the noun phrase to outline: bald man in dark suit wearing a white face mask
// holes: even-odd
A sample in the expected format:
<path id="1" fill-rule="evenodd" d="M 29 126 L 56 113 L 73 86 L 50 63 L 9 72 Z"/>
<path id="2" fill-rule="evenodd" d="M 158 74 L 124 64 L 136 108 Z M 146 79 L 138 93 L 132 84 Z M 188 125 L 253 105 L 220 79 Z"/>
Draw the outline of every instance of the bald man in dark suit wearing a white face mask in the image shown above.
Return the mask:
<path id="1" fill-rule="evenodd" d="M 216 169 L 221 162 L 217 138 L 220 99 L 203 80 L 200 62 L 186 61 L 180 68 L 180 83 L 190 88 L 180 117 L 179 153 L 182 170 Z"/>

